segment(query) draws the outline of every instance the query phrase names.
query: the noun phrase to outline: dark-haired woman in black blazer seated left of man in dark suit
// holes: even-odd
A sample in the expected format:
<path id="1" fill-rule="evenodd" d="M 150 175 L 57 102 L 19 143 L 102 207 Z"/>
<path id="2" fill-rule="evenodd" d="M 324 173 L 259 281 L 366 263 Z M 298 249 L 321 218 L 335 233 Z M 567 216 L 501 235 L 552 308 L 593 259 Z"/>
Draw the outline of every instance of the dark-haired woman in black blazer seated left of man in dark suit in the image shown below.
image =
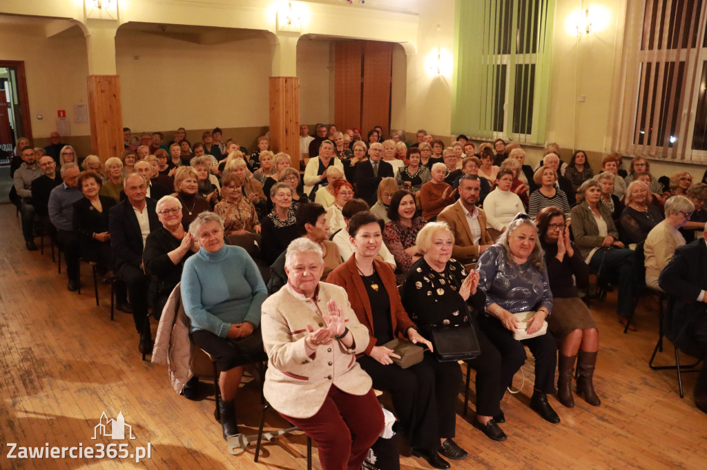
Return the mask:
<path id="1" fill-rule="evenodd" d="M 108 213 L 115 200 L 98 194 L 102 183 L 95 171 L 78 175 L 78 188 L 84 197 L 74 203 L 74 231 L 81 240 L 83 258 L 98 263 L 99 272 L 105 274 L 112 268 Z"/>

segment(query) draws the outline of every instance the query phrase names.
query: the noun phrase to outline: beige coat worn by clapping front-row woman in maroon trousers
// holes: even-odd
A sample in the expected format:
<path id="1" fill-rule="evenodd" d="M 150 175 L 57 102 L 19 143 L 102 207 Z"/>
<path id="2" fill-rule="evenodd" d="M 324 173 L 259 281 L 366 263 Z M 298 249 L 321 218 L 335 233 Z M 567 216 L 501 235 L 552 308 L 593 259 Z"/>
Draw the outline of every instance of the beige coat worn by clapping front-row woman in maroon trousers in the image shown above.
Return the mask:
<path id="1" fill-rule="evenodd" d="M 327 302 L 331 299 L 344 309 L 346 327 L 354 335 L 354 344 L 347 348 L 334 339 L 307 356 L 307 325 L 315 329 L 324 326 L 322 312 L 327 312 Z M 332 385 L 354 395 L 370 390 L 373 382 L 358 366 L 355 356 L 368 346 L 368 329 L 358 322 L 341 287 L 320 282 L 315 303 L 285 284 L 263 302 L 260 326 L 269 359 L 263 393 L 280 413 L 293 418 L 313 416 Z"/>

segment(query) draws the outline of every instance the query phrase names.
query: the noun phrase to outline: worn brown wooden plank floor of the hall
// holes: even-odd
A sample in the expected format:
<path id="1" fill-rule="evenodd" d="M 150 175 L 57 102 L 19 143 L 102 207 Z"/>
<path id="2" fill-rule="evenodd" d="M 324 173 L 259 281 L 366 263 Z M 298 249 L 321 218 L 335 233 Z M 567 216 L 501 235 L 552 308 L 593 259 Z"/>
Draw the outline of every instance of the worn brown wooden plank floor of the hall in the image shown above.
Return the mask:
<path id="1" fill-rule="evenodd" d="M 290 435 L 265 447 L 262 462 L 253 452 L 233 456 L 214 420 L 213 394 L 198 402 L 177 396 L 165 367 L 141 361 L 130 315 L 110 321 L 110 290 L 100 286 L 95 306 L 90 270 L 83 265 L 83 293 L 66 290 L 51 256 L 25 251 L 19 219 L 11 205 L 0 205 L 0 456 L 1 469 L 73 469 L 128 464 L 119 459 L 8 459 L 7 442 L 24 447 L 83 447 L 105 411 L 122 411 L 132 426 L 135 447 L 151 446 L 151 469 L 305 469 L 305 438 Z M 453 469 L 704 469 L 707 466 L 707 415 L 694 407 L 694 374 L 683 377 L 680 399 L 672 370 L 648 368 L 657 337 L 657 305 L 645 301 L 637 313 L 638 332 L 623 335 L 614 317 L 615 296 L 593 306 L 600 326 L 601 349 L 595 385 L 602 406 L 581 399 L 566 409 L 550 398 L 562 422 L 542 421 L 528 408 L 532 368 L 525 385 L 506 394 L 503 430 L 508 441 L 493 442 L 457 416 L 457 442 L 469 458 Z M 154 325 L 153 325 L 154 327 Z M 660 356 L 672 358 L 672 347 Z M 689 361 L 689 358 L 685 358 Z M 530 369 L 530 370 L 529 370 Z M 515 385 L 522 379 L 517 375 Z M 204 385 L 204 394 L 209 387 Z M 472 399 L 473 402 L 473 399 Z M 462 409 L 462 397 L 459 401 Z M 259 417 L 255 382 L 238 399 L 241 430 L 252 434 Z M 472 416 L 472 413 L 469 413 Z M 283 425 L 270 416 L 268 428 Z M 17 451 L 16 451 L 17 452 Z M 426 462 L 403 457 L 404 469 L 428 469 Z M 134 466 L 134 464 L 132 464 Z M 315 452 L 316 469 L 320 466 Z"/>

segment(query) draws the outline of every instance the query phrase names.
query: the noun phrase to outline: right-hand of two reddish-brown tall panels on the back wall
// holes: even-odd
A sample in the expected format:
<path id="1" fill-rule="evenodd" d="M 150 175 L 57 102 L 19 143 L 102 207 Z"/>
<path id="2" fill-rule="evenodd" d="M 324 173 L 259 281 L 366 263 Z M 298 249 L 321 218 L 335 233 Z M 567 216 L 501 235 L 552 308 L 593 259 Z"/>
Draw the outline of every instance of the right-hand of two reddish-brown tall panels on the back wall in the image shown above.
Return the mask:
<path id="1" fill-rule="evenodd" d="M 392 47 L 390 42 L 363 42 L 362 134 L 382 126 L 383 133 L 390 135 Z"/>

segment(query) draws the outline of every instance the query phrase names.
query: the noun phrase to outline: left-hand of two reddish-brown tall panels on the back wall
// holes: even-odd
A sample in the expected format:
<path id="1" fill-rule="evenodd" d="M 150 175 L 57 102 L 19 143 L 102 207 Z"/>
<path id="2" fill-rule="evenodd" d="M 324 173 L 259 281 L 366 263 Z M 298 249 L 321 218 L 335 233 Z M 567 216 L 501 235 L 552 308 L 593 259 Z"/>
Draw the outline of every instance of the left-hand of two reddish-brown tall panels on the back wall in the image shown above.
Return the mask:
<path id="1" fill-rule="evenodd" d="M 337 42 L 334 49 L 334 122 L 342 131 L 361 127 L 362 41 Z"/>

